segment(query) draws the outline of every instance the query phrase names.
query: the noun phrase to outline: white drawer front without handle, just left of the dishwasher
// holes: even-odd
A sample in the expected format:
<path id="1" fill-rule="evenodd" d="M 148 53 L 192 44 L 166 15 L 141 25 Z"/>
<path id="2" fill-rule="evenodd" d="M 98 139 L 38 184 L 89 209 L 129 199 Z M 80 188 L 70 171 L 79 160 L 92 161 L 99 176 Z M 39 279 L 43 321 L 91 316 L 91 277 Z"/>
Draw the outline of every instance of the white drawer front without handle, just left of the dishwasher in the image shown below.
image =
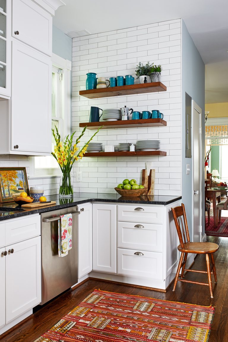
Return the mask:
<path id="1" fill-rule="evenodd" d="M 40 215 L 12 219 L 5 224 L 5 245 L 40 235 Z"/>

